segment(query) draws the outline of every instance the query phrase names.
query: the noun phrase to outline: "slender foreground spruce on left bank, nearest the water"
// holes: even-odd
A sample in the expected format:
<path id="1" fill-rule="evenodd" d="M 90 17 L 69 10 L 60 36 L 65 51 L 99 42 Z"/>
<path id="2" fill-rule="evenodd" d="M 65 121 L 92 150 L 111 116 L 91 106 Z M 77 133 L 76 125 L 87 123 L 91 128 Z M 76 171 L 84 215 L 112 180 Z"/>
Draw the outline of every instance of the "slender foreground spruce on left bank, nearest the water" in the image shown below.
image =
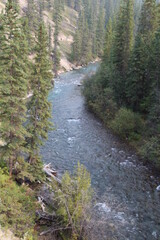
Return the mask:
<path id="1" fill-rule="evenodd" d="M 44 24 L 41 23 L 38 30 L 36 45 L 35 67 L 32 79 L 33 96 L 29 104 L 30 117 L 27 131 L 31 135 L 28 139 L 29 163 L 34 176 L 41 172 L 41 160 L 39 148 L 43 140 L 47 139 L 51 129 L 51 105 L 48 102 L 48 93 L 51 88 L 52 65 L 48 52 L 48 37 Z"/>

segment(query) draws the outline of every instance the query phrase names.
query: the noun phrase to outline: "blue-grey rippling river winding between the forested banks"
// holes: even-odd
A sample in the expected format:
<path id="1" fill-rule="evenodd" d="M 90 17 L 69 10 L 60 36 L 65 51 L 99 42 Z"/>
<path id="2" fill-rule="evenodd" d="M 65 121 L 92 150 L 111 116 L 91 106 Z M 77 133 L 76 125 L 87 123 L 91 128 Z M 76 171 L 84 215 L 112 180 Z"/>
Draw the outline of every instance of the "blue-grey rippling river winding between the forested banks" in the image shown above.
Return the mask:
<path id="1" fill-rule="evenodd" d="M 86 166 L 97 195 L 97 240 L 109 239 L 109 226 L 112 239 L 160 239 L 160 179 L 85 106 L 79 85 L 97 68 L 91 64 L 56 79 L 49 96 L 55 131 L 42 148 L 43 160 L 61 173 L 72 172 L 78 161 Z"/>

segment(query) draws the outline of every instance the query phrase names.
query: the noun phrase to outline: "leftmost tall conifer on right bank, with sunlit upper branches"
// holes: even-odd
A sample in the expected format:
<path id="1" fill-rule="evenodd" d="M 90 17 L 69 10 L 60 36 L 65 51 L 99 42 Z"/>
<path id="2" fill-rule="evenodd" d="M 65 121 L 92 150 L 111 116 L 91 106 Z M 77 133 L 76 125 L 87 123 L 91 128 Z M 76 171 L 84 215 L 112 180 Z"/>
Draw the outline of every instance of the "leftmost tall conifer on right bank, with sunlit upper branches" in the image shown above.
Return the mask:
<path id="1" fill-rule="evenodd" d="M 133 0 L 123 0 L 117 19 L 113 49 L 113 90 L 119 105 L 125 101 L 126 74 L 133 46 L 133 23 Z"/>

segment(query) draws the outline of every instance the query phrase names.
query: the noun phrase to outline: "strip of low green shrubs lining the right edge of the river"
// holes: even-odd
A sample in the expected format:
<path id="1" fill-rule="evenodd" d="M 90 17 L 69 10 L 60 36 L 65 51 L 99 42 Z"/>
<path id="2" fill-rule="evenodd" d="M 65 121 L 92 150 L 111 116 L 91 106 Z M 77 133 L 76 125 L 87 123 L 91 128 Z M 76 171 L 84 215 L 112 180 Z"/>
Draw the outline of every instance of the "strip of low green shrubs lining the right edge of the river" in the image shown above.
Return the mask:
<path id="1" fill-rule="evenodd" d="M 110 129 L 129 144 L 139 159 L 156 171 L 160 170 L 160 134 L 158 123 L 146 115 L 135 113 L 126 107 L 118 107 L 110 88 L 102 89 L 100 75 L 84 81 L 83 94 L 89 111 L 94 113 Z M 157 119 L 158 121 L 158 119 Z M 156 125 L 157 124 L 157 125 Z M 157 130 L 156 130 L 157 129 Z"/>

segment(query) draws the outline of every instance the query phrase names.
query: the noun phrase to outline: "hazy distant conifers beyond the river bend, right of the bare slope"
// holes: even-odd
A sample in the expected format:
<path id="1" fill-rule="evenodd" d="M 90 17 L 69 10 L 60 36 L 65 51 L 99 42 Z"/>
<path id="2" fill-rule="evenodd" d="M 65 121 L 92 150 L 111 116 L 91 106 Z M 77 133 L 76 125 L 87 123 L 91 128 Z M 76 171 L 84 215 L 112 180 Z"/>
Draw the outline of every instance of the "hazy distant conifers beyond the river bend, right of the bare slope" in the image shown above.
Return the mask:
<path id="1" fill-rule="evenodd" d="M 104 4 L 91 0 L 82 1 L 71 54 L 77 65 L 87 64 L 97 56 L 102 57 L 105 14 Z"/>

